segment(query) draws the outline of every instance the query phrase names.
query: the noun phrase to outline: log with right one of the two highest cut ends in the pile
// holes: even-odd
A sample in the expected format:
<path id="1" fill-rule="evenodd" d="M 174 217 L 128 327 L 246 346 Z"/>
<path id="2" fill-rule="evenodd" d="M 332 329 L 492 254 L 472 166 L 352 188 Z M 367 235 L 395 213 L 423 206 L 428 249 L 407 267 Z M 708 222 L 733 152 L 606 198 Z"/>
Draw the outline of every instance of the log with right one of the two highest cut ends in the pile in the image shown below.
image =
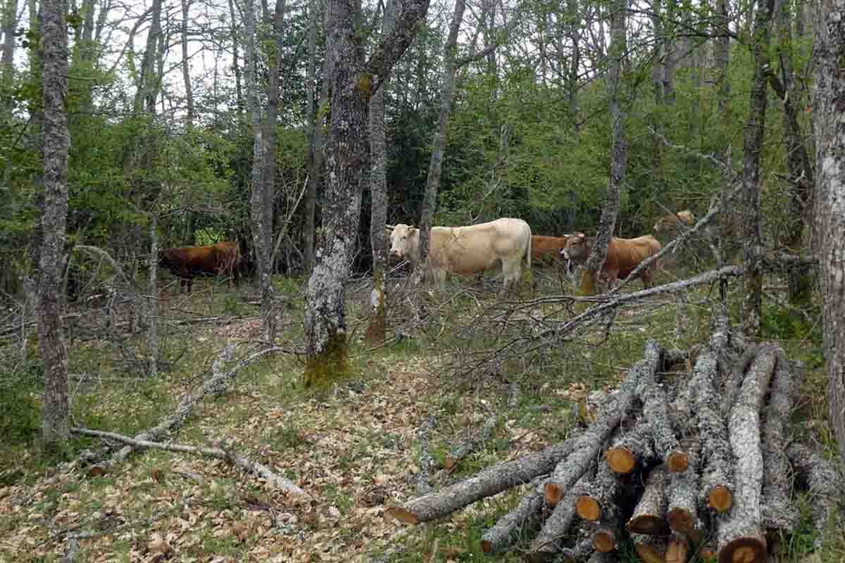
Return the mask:
<path id="1" fill-rule="evenodd" d="M 649 353 L 660 357 L 662 349 L 656 342 L 649 340 L 646 342 L 646 355 Z M 651 427 L 651 441 L 657 458 L 665 463 L 669 473 L 686 471 L 686 453 L 681 450 L 672 425 L 669 423 L 668 400 L 662 383 L 657 381 L 657 370 L 644 371 L 641 374 L 637 382 L 636 394 L 642 402 L 642 418 Z"/>

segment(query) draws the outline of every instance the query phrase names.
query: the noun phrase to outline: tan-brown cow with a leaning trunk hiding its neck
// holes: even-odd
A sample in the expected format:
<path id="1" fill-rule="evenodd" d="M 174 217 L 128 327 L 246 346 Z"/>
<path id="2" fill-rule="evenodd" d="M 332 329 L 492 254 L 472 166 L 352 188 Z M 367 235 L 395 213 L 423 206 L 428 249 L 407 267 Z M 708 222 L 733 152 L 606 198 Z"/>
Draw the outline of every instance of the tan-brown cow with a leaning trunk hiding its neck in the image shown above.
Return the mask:
<path id="1" fill-rule="evenodd" d="M 575 233 L 569 241 L 566 241 L 561 254 L 573 263 L 584 264 L 590 257 L 595 241 L 594 237 L 587 238 L 583 233 Z M 617 279 L 627 278 L 643 260 L 657 252 L 660 252 L 660 243 L 651 235 L 635 239 L 620 239 L 615 236 L 611 238 L 608 245 L 608 258 L 602 265 L 602 273 L 608 277 L 608 286 L 613 288 Z M 646 290 L 651 287 L 655 269 L 657 269 L 657 263 L 652 263 L 640 273 Z"/>

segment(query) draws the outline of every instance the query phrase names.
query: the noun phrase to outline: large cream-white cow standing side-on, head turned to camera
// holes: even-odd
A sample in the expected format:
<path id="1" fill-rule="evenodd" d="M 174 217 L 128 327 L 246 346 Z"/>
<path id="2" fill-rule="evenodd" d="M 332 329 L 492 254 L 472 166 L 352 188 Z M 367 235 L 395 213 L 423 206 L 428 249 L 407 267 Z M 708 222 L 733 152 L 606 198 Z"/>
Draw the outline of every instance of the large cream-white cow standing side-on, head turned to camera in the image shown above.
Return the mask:
<path id="1" fill-rule="evenodd" d="M 413 225 L 385 225 L 390 230 L 390 256 L 419 259 L 420 230 Z M 446 273 L 464 276 L 502 263 L 504 290 L 519 283 L 522 258 L 531 268 L 531 227 L 522 219 L 502 218 L 467 227 L 432 227 L 428 263 L 439 290 L 446 289 Z"/>

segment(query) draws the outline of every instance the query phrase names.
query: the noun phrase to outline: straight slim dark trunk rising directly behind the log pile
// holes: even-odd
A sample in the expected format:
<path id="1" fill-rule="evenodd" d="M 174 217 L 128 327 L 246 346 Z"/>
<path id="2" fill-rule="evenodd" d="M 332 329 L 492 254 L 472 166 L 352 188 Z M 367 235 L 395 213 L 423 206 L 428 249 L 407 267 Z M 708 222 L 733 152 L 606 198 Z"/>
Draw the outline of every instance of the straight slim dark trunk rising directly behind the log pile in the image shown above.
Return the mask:
<path id="1" fill-rule="evenodd" d="M 745 122 L 743 146 L 743 241 L 745 263 L 745 295 L 743 330 L 754 335 L 760 330 L 760 306 L 763 294 L 760 231 L 760 151 L 766 133 L 766 73 L 769 49 L 769 22 L 774 0 L 758 0 L 755 12 L 751 51 L 754 56 L 754 77 L 751 79 L 748 121 Z"/>

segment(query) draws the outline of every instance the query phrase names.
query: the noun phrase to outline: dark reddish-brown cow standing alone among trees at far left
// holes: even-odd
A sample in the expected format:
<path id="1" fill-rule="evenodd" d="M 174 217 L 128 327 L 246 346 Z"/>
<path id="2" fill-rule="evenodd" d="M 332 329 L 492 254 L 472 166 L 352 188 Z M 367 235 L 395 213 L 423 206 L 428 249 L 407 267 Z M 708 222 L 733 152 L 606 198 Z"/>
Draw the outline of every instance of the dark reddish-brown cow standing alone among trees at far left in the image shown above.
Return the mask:
<path id="1" fill-rule="evenodd" d="M 234 242 L 159 251 L 159 266 L 170 270 L 179 279 L 180 290 L 187 287 L 188 293 L 194 278 L 203 273 L 226 276 L 230 287 L 237 284 L 240 261 L 241 255 Z"/>

